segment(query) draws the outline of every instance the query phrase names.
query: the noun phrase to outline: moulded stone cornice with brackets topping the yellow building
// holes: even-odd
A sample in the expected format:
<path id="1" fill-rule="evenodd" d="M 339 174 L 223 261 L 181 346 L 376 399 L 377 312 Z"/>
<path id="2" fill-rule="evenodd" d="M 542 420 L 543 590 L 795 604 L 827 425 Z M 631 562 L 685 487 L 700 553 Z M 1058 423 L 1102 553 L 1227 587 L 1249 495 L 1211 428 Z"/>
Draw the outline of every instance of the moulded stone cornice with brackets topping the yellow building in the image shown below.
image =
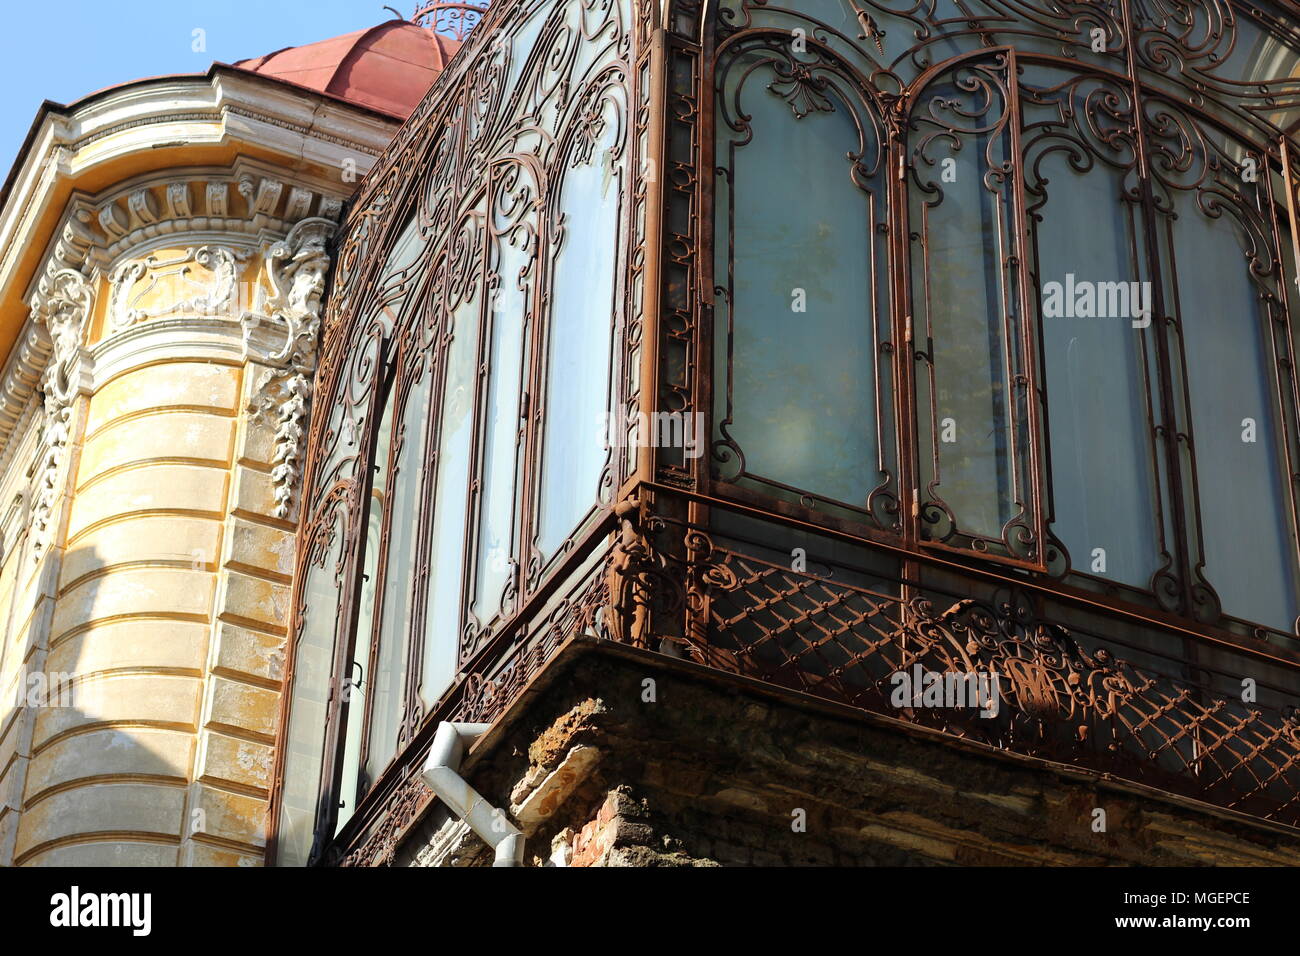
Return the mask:
<path id="1" fill-rule="evenodd" d="M 296 222 L 337 221 L 395 129 L 221 65 L 47 104 L 0 198 L 0 458 L 49 367 L 49 329 L 30 307 L 56 276 L 100 289 L 168 245 L 264 254 Z M 82 386 L 99 377 L 86 371 Z"/>

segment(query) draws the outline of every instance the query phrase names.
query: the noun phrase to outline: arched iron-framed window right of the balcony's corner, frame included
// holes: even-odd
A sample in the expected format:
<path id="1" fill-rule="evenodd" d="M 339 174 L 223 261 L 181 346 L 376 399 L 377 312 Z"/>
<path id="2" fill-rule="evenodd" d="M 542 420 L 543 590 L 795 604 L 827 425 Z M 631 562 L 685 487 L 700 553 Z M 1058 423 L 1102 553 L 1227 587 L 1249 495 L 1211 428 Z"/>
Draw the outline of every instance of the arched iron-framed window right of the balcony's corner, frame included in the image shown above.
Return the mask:
<path id="1" fill-rule="evenodd" d="M 880 107 L 780 34 L 728 47 L 715 87 L 716 473 L 892 527 Z"/>

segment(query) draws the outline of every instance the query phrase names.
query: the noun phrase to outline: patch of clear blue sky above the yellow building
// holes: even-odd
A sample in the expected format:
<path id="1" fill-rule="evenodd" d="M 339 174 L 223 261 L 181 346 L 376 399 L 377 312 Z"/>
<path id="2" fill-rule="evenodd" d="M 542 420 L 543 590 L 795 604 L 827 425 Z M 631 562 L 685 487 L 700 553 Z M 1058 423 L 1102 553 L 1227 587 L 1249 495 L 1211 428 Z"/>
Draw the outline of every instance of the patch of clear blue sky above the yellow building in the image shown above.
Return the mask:
<path id="1" fill-rule="evenodd" d="M 413 0 L 387 0 L 411 16 Z M 203 73 L 363 30 L 384 0 L 8 0 L 0 39 L 0 181 L 43 100 L 72 103 L 129 79 Z M 195 52 L 194 30 L 207 36 Z"/>

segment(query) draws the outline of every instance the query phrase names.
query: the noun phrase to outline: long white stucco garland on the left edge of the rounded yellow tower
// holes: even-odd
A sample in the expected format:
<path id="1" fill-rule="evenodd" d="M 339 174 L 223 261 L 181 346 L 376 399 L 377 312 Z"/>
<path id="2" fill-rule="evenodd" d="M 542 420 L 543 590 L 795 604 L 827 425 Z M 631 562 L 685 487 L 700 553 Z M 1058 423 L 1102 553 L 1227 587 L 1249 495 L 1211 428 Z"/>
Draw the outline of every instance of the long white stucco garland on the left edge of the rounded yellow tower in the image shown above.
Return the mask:
<path id="1" fill-rule="evenodd" d="M 32 561 L 40 561 L 49 548 L 51 516 L 58 499 L 58 472 L 66 454 L 73 399 L 77 397 L 75 369 L 94 302 L 94 289 L 75 269 L 60 269 L 42 278 L 31 300 L 32 315 L 46 326 L 53 346 L 42 377 L 46 421 L 32 493 Z"/>

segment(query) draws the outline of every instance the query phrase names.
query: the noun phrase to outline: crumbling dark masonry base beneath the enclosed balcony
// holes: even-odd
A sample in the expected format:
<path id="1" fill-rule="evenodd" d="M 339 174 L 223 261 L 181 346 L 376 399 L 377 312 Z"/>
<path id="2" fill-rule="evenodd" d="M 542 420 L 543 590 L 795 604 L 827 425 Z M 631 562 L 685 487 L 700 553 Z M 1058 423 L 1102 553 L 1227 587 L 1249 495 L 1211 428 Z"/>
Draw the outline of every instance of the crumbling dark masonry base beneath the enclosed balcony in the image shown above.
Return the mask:
<path id="1" fill-rule="evenodd" d="M 1290 827 L 610 644 L 563 652 L 465 777 L 530 865 L 1300 864 Z M 395 855 L 490 862 L 437 803 Z"/>

